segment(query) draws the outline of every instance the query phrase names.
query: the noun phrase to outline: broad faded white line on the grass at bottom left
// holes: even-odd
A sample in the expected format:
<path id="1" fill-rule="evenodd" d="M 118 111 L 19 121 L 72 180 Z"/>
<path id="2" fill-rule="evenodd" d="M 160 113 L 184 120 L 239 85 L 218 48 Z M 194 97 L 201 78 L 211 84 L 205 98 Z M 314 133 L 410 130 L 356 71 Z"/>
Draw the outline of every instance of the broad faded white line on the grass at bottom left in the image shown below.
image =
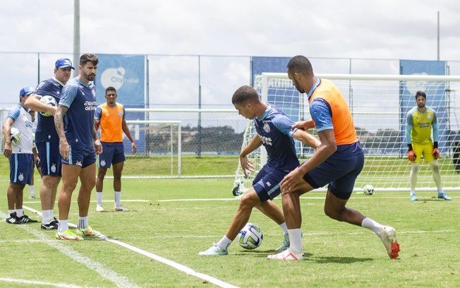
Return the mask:
<path id="1" fill-rule="evenodd" d="M 29 208 L 27 206 L 23 206 L 23 208 L 30 210 L 32 212 L 35 212 L 37 214 L 40 214 L 40 215 L 42 214 L 41 212 L 35 209 L 32 209 L 32 208 Z M 6 215 L 3 212 L 0 212 L 0 216 L 6 217 Z M 92 260 L 90 258 L 87 258 L 87 256 L 84 256 L 83 254 L 78 253 L 77 251 L 74 251 L 72 248 L 62 244 L 60 241 L 57 241 L 57 240 L 50 241 L 48 234 L 44 234 L 43 232 L 37 231 L 36 229 L 32 229 L 27 224 L 16 225 L 16 227 L 25 229 L 25 231 L 29 232 L 30 234 L 33 234 L 35 237 L 40 239 L 44 244 L 48 244 L 49 246 L 56 248 L 56 250 L 65 254 L 66 256 L 74 260 L 75 262 L 81 263 L 85 265 L 87 268 L 95 270 L 99 275 L 113 282 L 116 285 L 116 287 L 138 287 L 138 285 L 131 282 L 130 280 L 128 280 L 128 278 L 124 277 L 123 275 L 119 275 L 114 270 L 106 268 L 101 263 L 95 260 Z"/>

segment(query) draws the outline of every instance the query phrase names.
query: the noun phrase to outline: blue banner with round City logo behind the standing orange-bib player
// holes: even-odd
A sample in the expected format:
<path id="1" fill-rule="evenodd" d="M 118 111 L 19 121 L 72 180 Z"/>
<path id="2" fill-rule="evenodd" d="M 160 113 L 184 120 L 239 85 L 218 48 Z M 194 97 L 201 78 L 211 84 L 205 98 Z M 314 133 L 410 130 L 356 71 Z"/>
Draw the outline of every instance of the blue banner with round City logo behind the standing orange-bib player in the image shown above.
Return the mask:
<path id="1" fill-rule="evenodd" d="M 125 108 L 145 108 L 145 56 L 97 54 L 99 64 L 95 79 L 97 103 L 105 102 L 105 90 L 116 89 L 116 102 Z M 126 121 L 145 120 L 144 112 L 126 112 Z M 135 139 L 138 153 L 145 153 L 145 128 L 140 124 L 128 124 Z M 131 153 L 131 143 L 123 134 L 126 153 Z"/>

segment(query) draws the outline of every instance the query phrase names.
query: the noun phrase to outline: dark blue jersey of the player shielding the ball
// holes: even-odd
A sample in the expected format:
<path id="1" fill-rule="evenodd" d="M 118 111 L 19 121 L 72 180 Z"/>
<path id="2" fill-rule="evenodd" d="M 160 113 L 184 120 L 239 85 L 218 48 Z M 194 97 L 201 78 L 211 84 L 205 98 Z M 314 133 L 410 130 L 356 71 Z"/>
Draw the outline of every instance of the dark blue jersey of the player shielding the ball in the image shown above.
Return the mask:
<path id="1" fill-rule="evenodd" d="M 254 118 L 257 131 L 267 150 L 267 164 L 275 169 L 291 171 L 300 164 L 296 155 L 296 148 L 291 130 L 294 124 L 286 114 L 268 104 L 260 118 Z"/>

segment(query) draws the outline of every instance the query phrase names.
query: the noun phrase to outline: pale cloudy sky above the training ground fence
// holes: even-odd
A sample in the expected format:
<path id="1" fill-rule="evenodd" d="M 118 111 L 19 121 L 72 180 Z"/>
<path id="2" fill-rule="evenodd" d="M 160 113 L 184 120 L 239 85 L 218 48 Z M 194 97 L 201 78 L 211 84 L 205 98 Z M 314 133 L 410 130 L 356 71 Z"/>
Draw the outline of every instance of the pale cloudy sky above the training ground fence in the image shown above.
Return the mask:
<path id="1" fill-rule="evenodd" d="M 158 107 L 195 105 L 198 80 L 205 103 L 229 107 L 249 84 L 248 56 L 303 54 L 324 62 L 322 73 L 346 73 L 347 59 L 436 60 L 437 11 L 440 59 L 460 63 L 452 0 L 80 0 L 80 52 L 149 54 Z M 1 0 L 0 13 L 2 108 L 52 76 L 55 59 L 72 57 L 73 1 Z"/>

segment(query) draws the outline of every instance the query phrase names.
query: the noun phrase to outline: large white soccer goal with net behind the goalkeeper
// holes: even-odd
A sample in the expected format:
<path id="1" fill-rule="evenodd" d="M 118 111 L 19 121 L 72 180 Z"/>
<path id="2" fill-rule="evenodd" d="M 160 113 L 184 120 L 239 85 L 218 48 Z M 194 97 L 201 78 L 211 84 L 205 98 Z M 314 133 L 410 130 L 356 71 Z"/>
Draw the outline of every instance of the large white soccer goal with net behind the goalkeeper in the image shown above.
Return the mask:
<path id="1" fill-rule="evenodd" d="M 353 114 L 358 140 L 365 151 L 365 166 L 355 184 L 361 191 L 365 184 L 372 184 L 376 191 L 408 191 L 411 164 L 407 160 L 406 113 L 416 106 L 415 94 L 423 90 L 427 94 L 427 106 L 437 112 L 440 170 L 444 190 L 460 188 L 460 76 L 428 75 L 361 75 L 361 74 L 317 74 L 338 86 L 349 103 Z M 293 88 L 286 73 L 262 73 L 254 82 L 262 101 L 282 109 L 293 121 L 310 119 L 306 95 Z M 315 134 L 315 130 L 310 130 Z M 243 136 L 245 147 L 253 138 L 253 121 Z M 301 162 L 312 155 L 296 140 L 296 149 Z M 265 149 L 249 155 L 255 164 L 255 172 L 243 176 L 241 166 L 236 169 L 234 195 L 251 186 L 255 173 L 266 162 Z M 431 168 L 420 164 L 418 190 L 434 190 Z"/>

